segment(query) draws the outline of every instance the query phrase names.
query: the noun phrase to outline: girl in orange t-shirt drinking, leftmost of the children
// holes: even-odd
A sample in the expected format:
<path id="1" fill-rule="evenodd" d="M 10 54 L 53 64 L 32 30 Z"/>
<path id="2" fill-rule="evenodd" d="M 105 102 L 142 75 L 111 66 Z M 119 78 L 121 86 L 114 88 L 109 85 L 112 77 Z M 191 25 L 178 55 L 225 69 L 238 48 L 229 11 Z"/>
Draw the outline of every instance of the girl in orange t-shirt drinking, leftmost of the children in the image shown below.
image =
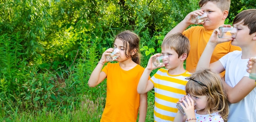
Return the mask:
<path id="1" fill-rule="evenodd" d="M 108 63 L 106 56 L 113 48 L 103 52 L 100 61 L 94 68 L 88 85 L 95 87 L 107 78 L 106 106 L 101 122 L 136 122 L 139 110 L 139 122 L 145 122 L 147 111 L 147 94 L 138 94 L 137 85 L 144 68 L 139 65 L 139 37 L 126 30 L 115 37 L 114 48 L 120 50 L 118 57 Z M 102 70 L 101 70 L 102 69 Z"/>

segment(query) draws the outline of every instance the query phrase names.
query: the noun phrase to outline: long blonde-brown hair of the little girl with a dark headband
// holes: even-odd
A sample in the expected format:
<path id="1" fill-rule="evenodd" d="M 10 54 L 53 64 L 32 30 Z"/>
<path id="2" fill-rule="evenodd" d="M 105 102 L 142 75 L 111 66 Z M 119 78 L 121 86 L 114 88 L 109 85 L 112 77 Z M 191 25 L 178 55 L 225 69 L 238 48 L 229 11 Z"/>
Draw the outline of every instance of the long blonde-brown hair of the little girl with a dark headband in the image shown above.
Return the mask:
<path id="1" fill-rule="evenodd" d="M 194 72 L 189 76 L 189 79 L 199 81 L 197 83 L 193 80 L 190 80 L 186 84 L 186 93 L 198 95 L 198 96 L 207 96 L 207 110 L 208 114 L 213 112 L 218 112 L 218 114 L 227 121 L 227 116 L 229 114 L 229 106 L 227 102 L 227 94 L 223 90 L 222 80 L 218 72 L 207 68 Z M 204 86 L 205 85 L 205 86 Z"/>

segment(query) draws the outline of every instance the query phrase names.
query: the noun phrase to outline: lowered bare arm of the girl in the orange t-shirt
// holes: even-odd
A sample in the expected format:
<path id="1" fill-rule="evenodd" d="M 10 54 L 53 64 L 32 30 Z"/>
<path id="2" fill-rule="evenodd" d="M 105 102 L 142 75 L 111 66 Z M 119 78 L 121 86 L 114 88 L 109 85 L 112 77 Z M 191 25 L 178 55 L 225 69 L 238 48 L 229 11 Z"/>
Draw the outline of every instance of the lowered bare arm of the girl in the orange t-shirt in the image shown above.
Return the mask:
<path id="1" fill-rule="evenodd" d="M 140 95 L 139 101 L 139 121 L 145 122 L 148 108 L 147 93 Z"/>

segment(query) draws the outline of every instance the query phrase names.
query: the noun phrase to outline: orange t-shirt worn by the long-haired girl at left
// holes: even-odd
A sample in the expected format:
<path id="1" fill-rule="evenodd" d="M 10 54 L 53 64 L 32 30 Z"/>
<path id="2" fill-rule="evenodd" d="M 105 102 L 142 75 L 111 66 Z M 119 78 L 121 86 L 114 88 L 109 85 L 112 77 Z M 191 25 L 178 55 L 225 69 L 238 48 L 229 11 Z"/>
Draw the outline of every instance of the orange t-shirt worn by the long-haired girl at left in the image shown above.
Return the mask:
<path id="1" fill-rule="evenodd" d="M 107 74 L 107 98 L 101 122 L 136 122 L 140 101 L 137 85 L 144 68 L 136 65 L 125 71 L 119 63 L 108 63 L 102 71 Z"/>

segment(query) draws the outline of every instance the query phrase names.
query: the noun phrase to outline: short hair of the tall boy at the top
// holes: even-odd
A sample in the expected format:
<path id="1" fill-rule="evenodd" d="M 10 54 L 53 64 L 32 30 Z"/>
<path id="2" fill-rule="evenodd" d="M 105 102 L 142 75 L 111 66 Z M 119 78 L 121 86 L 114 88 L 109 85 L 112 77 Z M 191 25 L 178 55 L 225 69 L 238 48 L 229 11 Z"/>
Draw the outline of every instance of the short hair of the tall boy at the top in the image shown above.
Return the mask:
<path id="1" fill-rule="evenodd" d="M 218 8 L 220 8 L 221 11 L 229 11 L 230 8 L 230 0 L 200 0 L 198 2 L 199 7 L 204 6 L 207 2 L 213 2 L 216 4 Z"/>

